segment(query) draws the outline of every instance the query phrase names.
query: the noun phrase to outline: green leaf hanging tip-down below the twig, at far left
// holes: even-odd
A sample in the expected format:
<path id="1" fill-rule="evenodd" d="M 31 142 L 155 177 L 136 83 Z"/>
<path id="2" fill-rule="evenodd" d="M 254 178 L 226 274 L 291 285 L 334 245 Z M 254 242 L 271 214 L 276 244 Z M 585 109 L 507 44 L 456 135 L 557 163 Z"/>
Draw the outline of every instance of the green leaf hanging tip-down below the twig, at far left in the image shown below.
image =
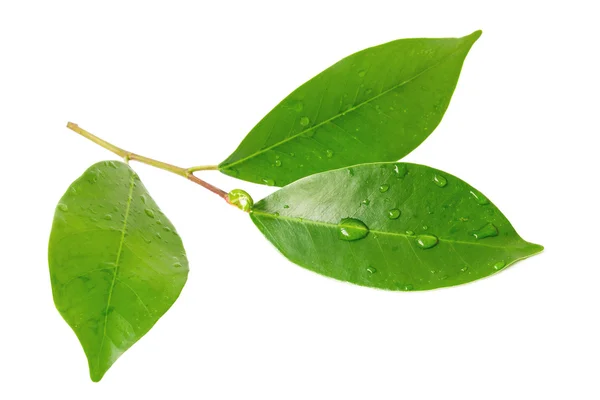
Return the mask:
<path id="1" fill-rule="evenodd" d="M 54 303 L 95 382 L 171 307 L 188 275 L 175 228 L 121 162 L 95 164 L 73 182 L 48 253 Z"/>

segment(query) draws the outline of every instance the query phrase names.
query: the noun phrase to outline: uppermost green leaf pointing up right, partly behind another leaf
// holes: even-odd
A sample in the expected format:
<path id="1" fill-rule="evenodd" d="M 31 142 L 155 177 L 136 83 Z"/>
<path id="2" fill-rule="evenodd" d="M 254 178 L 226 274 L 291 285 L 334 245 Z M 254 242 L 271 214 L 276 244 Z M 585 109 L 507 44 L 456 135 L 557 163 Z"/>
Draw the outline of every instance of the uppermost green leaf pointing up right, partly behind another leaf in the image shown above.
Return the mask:
<path id="1" fill-rule="evenodd" d="M 317 172 L 404 157 L 441 121 L 480 35 L 396 40 L 344 58 L 279 103 L 219 170 L 284 186 Z"/>

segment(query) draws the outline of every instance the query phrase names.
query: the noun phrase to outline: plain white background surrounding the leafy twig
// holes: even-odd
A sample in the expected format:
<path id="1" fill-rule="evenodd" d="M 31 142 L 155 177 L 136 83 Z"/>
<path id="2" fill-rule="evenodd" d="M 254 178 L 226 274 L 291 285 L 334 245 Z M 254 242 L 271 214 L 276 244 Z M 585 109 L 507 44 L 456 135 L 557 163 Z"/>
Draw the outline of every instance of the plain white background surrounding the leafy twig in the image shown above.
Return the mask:
<path id="1" fill-rule="evenodd" d="M 599 30 L 592 1 L 2 1 L 0 398 L 598 399 Z M 483 30 L 406 160 L 486 193 L 541 255 L 419 293 L 327 279 L 184 179 L 134 165 L 184 239 L 173 308 L 99 384 L 55 310 L 47 240 L 111 153 L 216 164 L 289 92 L 355 51 Z M 272 188 L 201 175 L 260 199 Z"/>

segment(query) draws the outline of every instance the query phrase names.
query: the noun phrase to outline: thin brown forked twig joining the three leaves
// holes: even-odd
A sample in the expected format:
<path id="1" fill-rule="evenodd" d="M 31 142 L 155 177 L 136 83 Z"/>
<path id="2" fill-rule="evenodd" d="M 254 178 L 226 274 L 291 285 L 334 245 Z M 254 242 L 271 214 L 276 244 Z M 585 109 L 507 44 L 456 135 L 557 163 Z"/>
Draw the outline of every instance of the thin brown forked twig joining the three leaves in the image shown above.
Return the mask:
<path id="1" fill-rule="evenodd" d="M 183 176 L 184 178 L 189 179 L 190 181 L 202 186 L 203 188 L 210 190 L 211 192 L 215 193 L 216 195 L 218 195 L 219 197 L 221 197 L 222 199 L 224 199 L 225 201 L 227 201 L 229 203 L 229 197 L 227 196 L 227 192 L 219 189 L 216 186 L 211 185 L 208 182 L 203 181 L 202 179 L 200 179 L 194 175 L 194 171 L 217 169 L 217 167 L 215 165 L 199 166 L 199 167 L 192 167 L 192 168 L 187 168 L 187 169 L 181 168 L 181 167 L 177 167 L 175 165 L 164 163 L 162 161 L 154 160 L 152 158 L 144 157 L 144 156 L 141 156 L 136 153 L 132 153 L 127 150 L 123 150 L 122 148 L 117 147 L 114 144 L 108 143 L 107 141 L 100 139 L 98 136 L 86 131 L 85 129 L 80 128 L 77 124 L 74 124 L 72 122 L 69 122 L 67 124 L 67 128 L 79 133 L 81 136 L 83 136 L 86 139 L 91 140 L 92 142 L 96 143 L 97 145 L 102 146 L 109 151 L 112 151 L 119 157 L 124 158 L 125 160 L 139 161 L 141 163 L 148 164 L 153 167 L 172 172 L 176 175 Z"/>

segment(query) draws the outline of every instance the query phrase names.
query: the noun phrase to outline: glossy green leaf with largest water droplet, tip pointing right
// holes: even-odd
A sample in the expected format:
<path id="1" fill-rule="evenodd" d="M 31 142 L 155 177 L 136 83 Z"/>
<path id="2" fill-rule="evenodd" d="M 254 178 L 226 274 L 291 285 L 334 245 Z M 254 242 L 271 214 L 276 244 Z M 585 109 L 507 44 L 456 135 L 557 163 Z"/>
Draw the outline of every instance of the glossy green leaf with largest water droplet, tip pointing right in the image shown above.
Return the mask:
<path id="1" fill-rule="evenodd" d="M 256 203 L 251 218 L 290 261 L 389 290 L 470 282 L 543 249 L 476 189 L 416 164 L 313 175 Z"/>

